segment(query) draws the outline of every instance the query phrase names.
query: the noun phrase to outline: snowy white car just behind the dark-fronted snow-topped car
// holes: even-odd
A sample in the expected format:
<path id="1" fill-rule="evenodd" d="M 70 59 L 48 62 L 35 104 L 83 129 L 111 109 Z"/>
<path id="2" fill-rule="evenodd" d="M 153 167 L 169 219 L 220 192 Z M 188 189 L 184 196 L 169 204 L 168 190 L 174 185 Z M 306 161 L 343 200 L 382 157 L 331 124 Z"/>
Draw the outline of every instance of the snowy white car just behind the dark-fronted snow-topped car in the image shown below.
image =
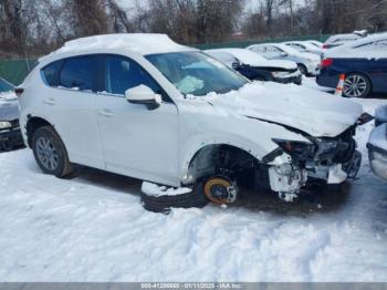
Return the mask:
<path id="1" fill-rule="evenodd" d="M 299 52 L 283 43 L 262 43 L 247 48 L 269 60 L 293 61 L 304 75 L 317 75 L 321 56 L 310 52 Z"/>

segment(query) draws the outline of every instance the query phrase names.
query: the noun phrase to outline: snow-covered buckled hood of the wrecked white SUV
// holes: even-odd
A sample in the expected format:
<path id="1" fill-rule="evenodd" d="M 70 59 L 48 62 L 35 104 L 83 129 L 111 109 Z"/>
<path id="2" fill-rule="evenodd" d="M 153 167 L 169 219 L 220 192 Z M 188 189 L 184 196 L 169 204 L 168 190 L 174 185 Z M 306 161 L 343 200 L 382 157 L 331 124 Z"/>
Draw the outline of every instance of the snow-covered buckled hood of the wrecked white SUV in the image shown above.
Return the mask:
<path id="1" fill-rule="evenodd" d="M 230 115 L 286 125 L 315 137 L 335 137 L 354 125 L 363 106 L 299 85 L 254 82 L 205 100 Z"/>

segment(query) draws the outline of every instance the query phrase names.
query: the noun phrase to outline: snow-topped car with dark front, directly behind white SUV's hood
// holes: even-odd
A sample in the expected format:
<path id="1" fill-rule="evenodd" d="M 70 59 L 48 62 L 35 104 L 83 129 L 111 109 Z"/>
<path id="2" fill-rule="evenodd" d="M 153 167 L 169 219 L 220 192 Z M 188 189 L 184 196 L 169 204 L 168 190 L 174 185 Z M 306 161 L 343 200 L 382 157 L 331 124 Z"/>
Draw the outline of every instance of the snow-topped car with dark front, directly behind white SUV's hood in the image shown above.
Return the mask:
<path id="1" fill-rule="evenodd" d="M 297 64 L 292 61 L 266 60 L 245 49 L 206 50 L 205 53 L 221 61 L 251 81 L 302 83 Z"/>

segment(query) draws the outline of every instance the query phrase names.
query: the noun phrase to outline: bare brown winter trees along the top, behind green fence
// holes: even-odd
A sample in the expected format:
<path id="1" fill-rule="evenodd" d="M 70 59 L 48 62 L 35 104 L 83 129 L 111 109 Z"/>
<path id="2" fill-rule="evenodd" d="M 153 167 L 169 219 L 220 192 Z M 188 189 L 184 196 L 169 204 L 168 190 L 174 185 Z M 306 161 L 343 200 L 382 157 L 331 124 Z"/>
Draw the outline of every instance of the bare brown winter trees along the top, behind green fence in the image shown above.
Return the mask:
<path id="1" fill-rule="evenodd" d="M 31 58 L 65 41 L 117 32 L 185 43 L 387 30 L 387 0 L 1 0 L 0 58 Z"/>

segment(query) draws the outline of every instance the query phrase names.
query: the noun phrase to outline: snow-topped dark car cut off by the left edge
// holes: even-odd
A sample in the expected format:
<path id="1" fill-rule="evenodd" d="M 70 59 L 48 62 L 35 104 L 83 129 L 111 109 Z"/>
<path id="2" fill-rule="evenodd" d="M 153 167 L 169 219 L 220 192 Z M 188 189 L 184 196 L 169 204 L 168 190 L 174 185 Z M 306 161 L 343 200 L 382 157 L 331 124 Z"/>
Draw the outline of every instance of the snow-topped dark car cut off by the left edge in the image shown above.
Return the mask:
<path id="1" fill-rule="evenodd" d="M 23 145 L 14 86 L 0 77 L 0 152 Z"/>

